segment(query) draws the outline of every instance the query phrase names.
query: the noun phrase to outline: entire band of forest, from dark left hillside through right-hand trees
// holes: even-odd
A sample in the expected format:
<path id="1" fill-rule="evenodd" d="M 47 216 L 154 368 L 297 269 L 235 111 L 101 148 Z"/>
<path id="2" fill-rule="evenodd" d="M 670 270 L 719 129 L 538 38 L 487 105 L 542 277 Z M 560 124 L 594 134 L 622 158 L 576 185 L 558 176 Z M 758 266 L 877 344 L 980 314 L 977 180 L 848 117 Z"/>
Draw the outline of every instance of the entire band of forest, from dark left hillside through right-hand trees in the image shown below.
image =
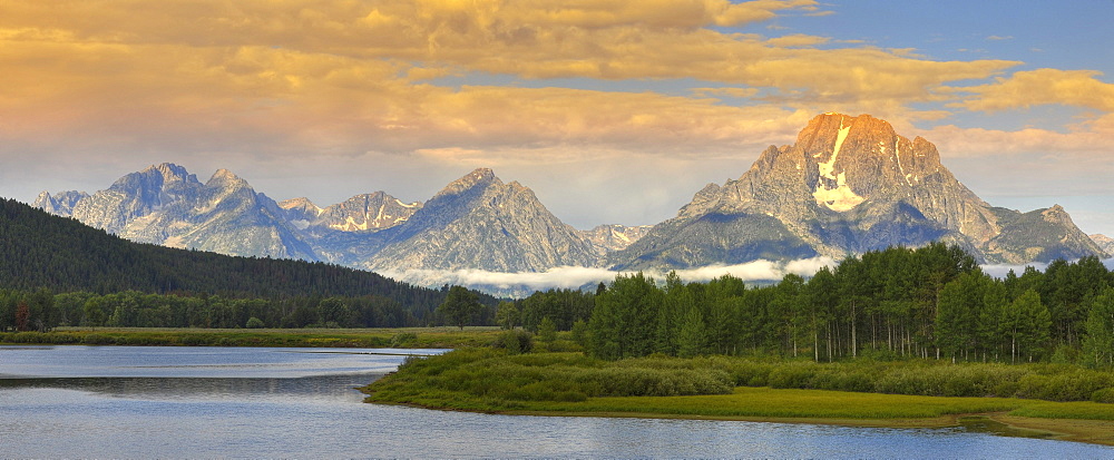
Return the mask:
<path id="1" fill-rule="evenodd" d="M 0 200 L 0 331 L 67 326 L 573 331 L 593 355 L 922 358 L 1114 365 L 1114 274 L 1097 257 L 995 278 L 956 246 L 849 256 L 761 286 L 618 275 L 502 301 L 301 261 L 135 244 Z M 479 304 L 479 306 L 477 306 Z M 497 307 L 496 304 L 499 304 Z"/>

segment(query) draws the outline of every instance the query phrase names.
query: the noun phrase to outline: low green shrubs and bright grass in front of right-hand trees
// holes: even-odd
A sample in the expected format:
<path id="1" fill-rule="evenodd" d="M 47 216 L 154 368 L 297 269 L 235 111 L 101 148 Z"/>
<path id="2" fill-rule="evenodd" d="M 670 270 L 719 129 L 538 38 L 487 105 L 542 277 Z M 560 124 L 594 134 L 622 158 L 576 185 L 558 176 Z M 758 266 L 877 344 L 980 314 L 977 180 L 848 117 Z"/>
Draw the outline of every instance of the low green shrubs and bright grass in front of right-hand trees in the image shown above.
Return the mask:
<path id="1" fill-rule="evenodd" d="M 510 355 L 488 349 L 409 360 L 398 373 L 363 390 L 370 402 L 483 412 L 902 421 L 1008 412 L 1103 421 L 1114 420 L 1114 405 L 1095 401 L 1114 400 L 1114 388 L 1089 389 L 1108 382 L 1110 376 L 1074 366 L 935 360 L 814 363 L 727 356 L 686 360 L 655 354 L 603 361 L 579 353 Z M 873 381 L 879 378 L 885 382 L 876 386 Z M 741 380 L 770 383 L 732 390 Z M 1067 380 L 1085 383 L 1056 392 Z M 1045 392 L 1047 399 L 1077 401 L 986 398 L 1015 395 L 1023 388 Z M 1108 434 L 1107 425 L 1095 427 Z"/>

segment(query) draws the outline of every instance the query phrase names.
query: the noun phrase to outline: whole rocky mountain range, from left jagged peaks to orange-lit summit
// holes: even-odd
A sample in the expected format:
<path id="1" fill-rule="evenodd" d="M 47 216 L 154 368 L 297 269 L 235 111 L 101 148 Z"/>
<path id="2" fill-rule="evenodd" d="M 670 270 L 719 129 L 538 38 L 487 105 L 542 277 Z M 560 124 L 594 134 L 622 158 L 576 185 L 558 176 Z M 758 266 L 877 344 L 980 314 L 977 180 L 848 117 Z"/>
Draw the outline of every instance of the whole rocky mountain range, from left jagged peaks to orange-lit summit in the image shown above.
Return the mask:
<path id="1" fill-rule="evenodd" d="M 33 206 L 136 242 L 392 275 L 688 268 L 839 258 L 932 241 L 985 263 L 1106 256 L 1062 207 L 991 206 L 941 165 L 935 145 L 869 115 L 813 118 L 795 144 L 771 146 L 737 179 L 709 184 L 676 217 L 653 226 L 578 231 L 528 187 L 487 168 L 424 203 L 375 192 L 322 208 L 307 198 L 275 202 L 224 169 L 203 184 L 162 164 L 91 195 L 43 192 Z"/>

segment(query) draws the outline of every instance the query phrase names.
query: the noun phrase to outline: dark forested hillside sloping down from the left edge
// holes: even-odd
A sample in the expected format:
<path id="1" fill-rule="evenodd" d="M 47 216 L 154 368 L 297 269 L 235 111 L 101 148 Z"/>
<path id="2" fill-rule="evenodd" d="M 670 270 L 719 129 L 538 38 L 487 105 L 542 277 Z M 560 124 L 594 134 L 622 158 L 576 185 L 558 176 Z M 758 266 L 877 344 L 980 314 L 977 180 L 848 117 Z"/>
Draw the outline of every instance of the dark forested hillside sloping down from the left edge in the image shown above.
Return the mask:
<path id="1" fill-rule="evenodd" d="M 424 325 L 446 295 L 323 263 L 136 244 L 12 199 L 0 199 L 0 329 L 40 330 L 243 327 L 251 317 L 266 326 Z"/>

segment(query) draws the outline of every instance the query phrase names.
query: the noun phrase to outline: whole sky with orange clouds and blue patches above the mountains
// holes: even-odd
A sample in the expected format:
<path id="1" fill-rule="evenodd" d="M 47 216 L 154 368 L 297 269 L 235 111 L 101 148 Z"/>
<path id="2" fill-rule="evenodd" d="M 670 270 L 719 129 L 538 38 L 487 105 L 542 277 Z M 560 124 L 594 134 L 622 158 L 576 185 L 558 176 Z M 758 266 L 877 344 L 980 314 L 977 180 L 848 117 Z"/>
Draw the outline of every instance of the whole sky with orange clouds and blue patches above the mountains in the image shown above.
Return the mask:
<path id="1" fill-rule="evenodd" d="M 935 143 L 993 205 L 1114 235 L 1114 1 L 0 0 L 0 196 L 164 162 L 275 199 L 489 167 L 648 225 L 818 114 Z"/>

